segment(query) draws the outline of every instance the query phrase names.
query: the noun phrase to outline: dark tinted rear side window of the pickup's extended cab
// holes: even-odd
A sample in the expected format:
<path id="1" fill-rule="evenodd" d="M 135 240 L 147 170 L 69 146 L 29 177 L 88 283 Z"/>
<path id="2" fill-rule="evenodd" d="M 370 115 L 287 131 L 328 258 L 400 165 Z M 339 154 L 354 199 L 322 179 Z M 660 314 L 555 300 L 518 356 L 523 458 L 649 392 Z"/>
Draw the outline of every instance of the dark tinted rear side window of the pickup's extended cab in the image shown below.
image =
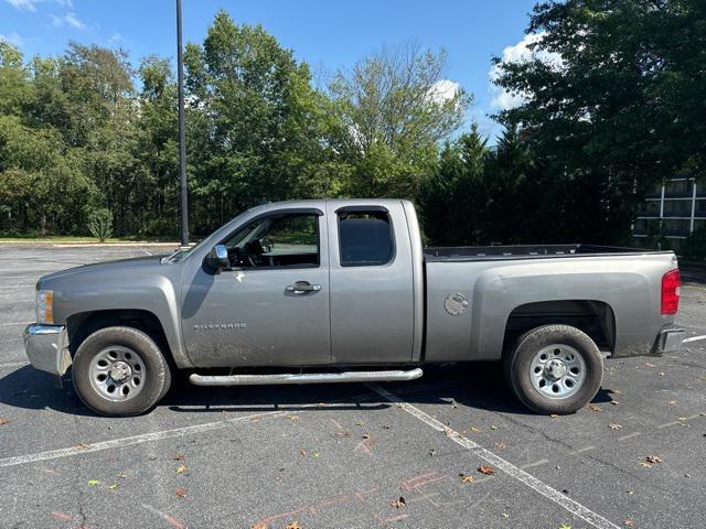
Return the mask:
<path id="1" fill-rule="evenodd" d="M 341 266 L 374 267 L 393 258 L 393 233 L 385 212 L 339 213 Z"/>

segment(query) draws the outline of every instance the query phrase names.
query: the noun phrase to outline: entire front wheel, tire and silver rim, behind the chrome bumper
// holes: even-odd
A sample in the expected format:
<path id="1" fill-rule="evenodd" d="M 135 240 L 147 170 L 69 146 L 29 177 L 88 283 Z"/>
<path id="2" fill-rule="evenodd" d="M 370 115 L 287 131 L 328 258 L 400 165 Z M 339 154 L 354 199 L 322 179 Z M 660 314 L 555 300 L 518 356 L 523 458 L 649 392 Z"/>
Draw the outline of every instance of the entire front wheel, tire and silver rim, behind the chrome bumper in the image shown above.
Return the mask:
<path id="1" fill-rule="evenodd" d="M 78 347 L 72 378 L 81 400 L 108 417 L 150 410 L 169 390 L 171 373 L 154 341 L 137 328 L 105 327 Z"/>

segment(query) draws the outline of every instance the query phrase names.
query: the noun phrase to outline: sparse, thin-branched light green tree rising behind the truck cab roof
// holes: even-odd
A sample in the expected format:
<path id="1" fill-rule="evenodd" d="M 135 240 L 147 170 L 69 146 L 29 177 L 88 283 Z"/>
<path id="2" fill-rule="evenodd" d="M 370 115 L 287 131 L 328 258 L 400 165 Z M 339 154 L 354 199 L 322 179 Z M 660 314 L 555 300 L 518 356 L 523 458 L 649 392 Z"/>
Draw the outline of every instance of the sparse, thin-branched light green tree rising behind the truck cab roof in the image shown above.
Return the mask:
<path id="1" fill-rule="evenodd" d="M 441 77 L 446 53 L 383 48 L 329 84 L 338 118 L 330 139 L 352 166 L 343 192 L 415 197 L 438 142 L 461 125 L 471 97 Z"/>

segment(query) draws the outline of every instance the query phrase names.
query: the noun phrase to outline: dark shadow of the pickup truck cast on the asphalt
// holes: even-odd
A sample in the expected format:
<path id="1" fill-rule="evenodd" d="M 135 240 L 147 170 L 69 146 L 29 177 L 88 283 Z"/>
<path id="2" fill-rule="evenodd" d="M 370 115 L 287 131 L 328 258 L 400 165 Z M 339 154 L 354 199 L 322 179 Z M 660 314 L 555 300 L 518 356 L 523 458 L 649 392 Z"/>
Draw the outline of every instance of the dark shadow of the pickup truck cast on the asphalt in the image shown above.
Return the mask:
<path id="1" fill-rule="evenodd" d="M 410 382 L 384 384 L 388 391 L 411 404 L 458 404 L 510 414 L 532 414 L 502 382 L 498 364 L 457 364 L 427 366 L 425 376 Z M 610 402 L 601 390 L 593 402 Z M 86 409 L 71 384 L 51 385 L 47 377 L 31 366 L 0 378 L 0 403 L 24 409 L 52 409 L 74 415 L 95 414 Z M 394 403 L 362 384 L 311 386 L 248 386 L 239 388 L 195 387 L 178 377 L 172 390 L 158 406 L 176 413 L 257 413 L 272 410 L 383 410 Z"/>

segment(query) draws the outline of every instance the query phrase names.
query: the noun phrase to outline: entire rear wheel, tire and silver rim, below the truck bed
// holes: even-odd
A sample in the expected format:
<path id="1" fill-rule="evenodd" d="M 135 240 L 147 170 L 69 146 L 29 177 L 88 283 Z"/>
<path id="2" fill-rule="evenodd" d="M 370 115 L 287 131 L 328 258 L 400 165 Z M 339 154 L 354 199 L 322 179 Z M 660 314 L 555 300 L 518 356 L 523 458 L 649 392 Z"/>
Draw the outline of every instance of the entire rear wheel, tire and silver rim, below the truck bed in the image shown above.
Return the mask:
<path id="1" fill-rule="evenodd" d="M 523 334 L 504 358 L 515 396 L 538 413 L 574 413 L 600 389 L 603 359 L 596 343 L 570 325 L 543 325 Z"/>

